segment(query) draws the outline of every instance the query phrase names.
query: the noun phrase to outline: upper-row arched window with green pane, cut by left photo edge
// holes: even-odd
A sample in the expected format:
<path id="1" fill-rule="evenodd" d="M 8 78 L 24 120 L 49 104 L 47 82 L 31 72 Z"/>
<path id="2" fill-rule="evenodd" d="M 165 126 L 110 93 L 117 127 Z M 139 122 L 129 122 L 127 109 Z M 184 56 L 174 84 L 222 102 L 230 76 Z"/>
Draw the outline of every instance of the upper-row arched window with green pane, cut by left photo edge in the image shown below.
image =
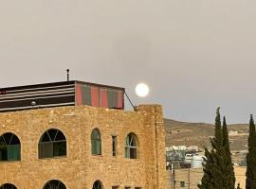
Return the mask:
<path id="1" fill-rule="evenodd" d="M 21 160 L 21 143 L 19 138 L 7 132 L 0 136 L 0 162 Z"/>

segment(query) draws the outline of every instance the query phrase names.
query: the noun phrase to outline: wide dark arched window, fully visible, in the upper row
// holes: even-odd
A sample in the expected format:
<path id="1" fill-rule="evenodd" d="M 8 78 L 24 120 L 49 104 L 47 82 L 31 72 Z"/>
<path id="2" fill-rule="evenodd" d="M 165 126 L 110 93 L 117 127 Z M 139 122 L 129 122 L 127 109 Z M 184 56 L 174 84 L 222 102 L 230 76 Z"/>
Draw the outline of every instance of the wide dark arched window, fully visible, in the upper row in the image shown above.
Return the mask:
<path id="1" fill-rule="evenodd" d="M 59 129 L 48 129 L 38 144 L 39 158 L 53 158 L 66 155 L 66 140 Z"/>

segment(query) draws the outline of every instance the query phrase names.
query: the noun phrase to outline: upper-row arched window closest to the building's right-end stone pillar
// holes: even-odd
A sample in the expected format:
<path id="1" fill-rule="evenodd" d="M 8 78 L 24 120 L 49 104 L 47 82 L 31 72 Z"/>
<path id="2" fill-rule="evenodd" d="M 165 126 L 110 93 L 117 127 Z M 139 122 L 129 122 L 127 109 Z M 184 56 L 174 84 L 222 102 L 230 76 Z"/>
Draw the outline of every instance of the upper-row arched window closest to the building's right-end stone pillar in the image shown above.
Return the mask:
<path id="1" fill-rule="evenodd" d="M 125 140 L 125 158 L 137 159 L 137 136 L 129 133 Z"/>

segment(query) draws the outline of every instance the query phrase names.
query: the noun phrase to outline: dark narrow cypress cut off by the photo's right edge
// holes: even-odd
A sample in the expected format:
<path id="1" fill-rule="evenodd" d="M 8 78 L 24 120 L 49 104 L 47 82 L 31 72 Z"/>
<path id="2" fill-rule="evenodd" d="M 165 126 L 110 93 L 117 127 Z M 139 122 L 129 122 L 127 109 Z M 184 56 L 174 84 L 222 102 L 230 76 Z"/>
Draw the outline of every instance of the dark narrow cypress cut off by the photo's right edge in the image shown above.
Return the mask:
<path id="1" fill-rule="evenodd" d="M 252 114 L 249 119 L 248 153 L 247 153 L 247 183 L 246 189 L 256 188 L 256 132 Z"/>

